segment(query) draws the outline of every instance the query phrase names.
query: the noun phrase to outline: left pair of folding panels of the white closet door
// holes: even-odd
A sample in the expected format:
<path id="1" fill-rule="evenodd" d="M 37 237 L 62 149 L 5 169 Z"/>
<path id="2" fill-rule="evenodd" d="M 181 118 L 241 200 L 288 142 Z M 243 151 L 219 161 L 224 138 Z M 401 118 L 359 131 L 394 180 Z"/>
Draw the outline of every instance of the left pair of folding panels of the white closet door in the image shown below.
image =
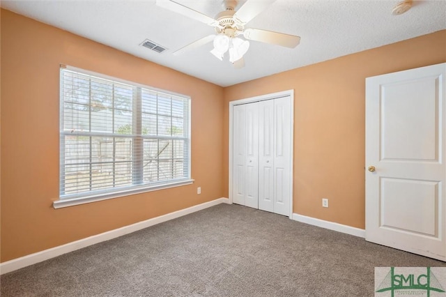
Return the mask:
<path id="1" fill-rule="evenodd" d="M 233 108 L 233 202 L 259 208 L 259 107 Z"/>

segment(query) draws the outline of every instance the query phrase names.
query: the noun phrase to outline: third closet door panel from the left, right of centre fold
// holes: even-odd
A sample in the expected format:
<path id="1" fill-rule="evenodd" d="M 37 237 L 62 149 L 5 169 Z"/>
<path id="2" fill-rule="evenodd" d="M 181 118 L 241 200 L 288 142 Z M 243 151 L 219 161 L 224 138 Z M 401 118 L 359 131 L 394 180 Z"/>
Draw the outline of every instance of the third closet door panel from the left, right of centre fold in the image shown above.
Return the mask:
<path id="1" fill-rule="evenodd" d="M 259 209 L 274 212 L 274 100 L 259 104 Z"/>

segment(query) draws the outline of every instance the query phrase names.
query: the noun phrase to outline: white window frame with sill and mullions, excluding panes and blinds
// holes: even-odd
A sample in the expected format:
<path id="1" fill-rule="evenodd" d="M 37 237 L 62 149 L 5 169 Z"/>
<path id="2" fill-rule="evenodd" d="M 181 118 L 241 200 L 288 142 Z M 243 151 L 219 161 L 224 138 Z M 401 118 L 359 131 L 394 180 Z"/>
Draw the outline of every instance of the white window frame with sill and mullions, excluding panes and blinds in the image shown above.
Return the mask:
<path id="1" fill-rule="evenodd" d="M 88 192 L 78 192 L 75 194 L 71 194 L 71 195 L 63 195 L 62 193 L 62 178 L 65 178 L 65 174 L 63 172 L 63 168 L 65 166 L 64 162 L 65 162 L 65 151 L 66 151 L 66 144 L 65 144 L 65 140 L 64 137 L 67 135 L 67 132 L 64 130 L 64 111 L 65 111 L 65 106 L 64 106 L 64 97 L 63 97 L 63 70 L 70 70 L 72 72 L 75 73 L 79 73 L 82 75 L 89 75 L 91 77 L 97 77 L 99 79 L 105 79 L 105 80 L 109 80 L 111 82 L 116 82 L 117 84 L 127 84 L 129 86 L 132 86 L 132 88 L 136 88 L 135 90 L 137 92 L 139 92 L 139 96 L 140 98 L 133 98 L 132 99 L 132 105 L 134 105 L 133 109 L 132 109 L 132 121 L 135 120 L 135 117 L 137 119 L 139 119 L 139 123 L 137 123 L 137 130 L 139 130 L 139 132 L 137 132 L 135 135 L 132 135 L 132 139 L 135 139 L 134 137 L 141 137 L 141 139 L 144 141 L 144 139 L 176 139 L 176 137 L 168 137 L 168 136 L 164 136 L 164 135 L 151 135 L 151 137 L 148 137 L 148 135 L 143 135 L 141 133 L 141 115 L 143 114 L 142 112 L 142 107 L 141 107 L 141 100 L 142 100 L 142 89 L 144 89 L 145 91 L 149 91 L 149 92 L 155 92 L 155 93 L 163 93 L 166 94 L 167 96 L 175 96 L 175 97 L 179 97 L 179 98 L 183 98 L 185 100 L 185 102 L 187 102 L 187 122 L 185 120 L 185 123 L 187 123 L 187 129 L 185 129 L 187 131 L 187 135 L 185 135 L 185 137 L 178 137 L 178 139 L 185 139 L 185 142 L 187 142 L 187 144 L 185 144 L 185 148 L 187 150 L 187 155 L 185 155 L 185 166 L 187 166 L 187 176 L 185 176 L 184 178 L 174 178 L 174 179 L 168 179 L 168 180 L 164 180 L 164 181 L 156 181 L 153 183 L 146 183 L 146 184 L 138 184 L 134 182 L 133 178 L 134 178 L 134 173 L 132 174 L 132 185 L 128 185 L 125 187 L 119 187 L 119 188 L 107 188 L 105 190 L 93 190 L 93 191 L 88 191 Z M 73 206 L 73 205 L 77 205 L 77 204 L 86 204 L 86 203 L 91 203 L 94 201 L 102 201 L 105 199 L 113 199 L 113 198 L 117 198 L 117 197 L 124 197 L 124 196 L 128 196 L 128 195 L 134 195 L 134 194 L 139 194 L 142 192 L 150 192 L 150 191 L 154 191 L 154 190 L 164 190 L 167 188 L 174 188 L 174 187 L 178 187 L 178 186 L 182 186 L 182 185 L 190 185 L 194 182 L 194 180 L 191 178 L 191 163 L 192 163 L 192 151 L 191 151 L 191 142 L 192 142 L 192 135 L 191 135 L 191 122 L 192 122 L 192 118 L 191 118 L 191 103 L 192 100 L 190 98 L 190 96 L 186 96 L 180 93 L 174 93 L 171 91 L 166 91 L 166 90 L 162 90 L 162 89 L 157 89 L 157 88 L 153 88 L 152 86 L 147 86 L 145 84 L 139 84 L 137 82 L 130 82 L 128 80 L 125 79 L 120 79 L 117 77 L 112 77 L 109 75 L 103 75 L 100 73 L 95 73 L 93 71 L 89 71 L 89 70 L 84 70 L 81 68 L 75 68 L 72 66 L 66 66 L 66 65 L 62 65 L 59 68 L 59 200 L 56 200 L 53 202 L 53 207 L 54 208 L 63 208 L 63 207 L 67 207 L 67 206 Z M 90 106 L 90 105 L 89 105 Z M 137 113 L 138 115 L 136 116 L 134 113 Z M 170 115 L 172 116 L 172 114 Z M 141 125 L 141 127 L 139 127 Z M 86 132 L 86 133 L 79 133 L 81 135 L 85 135 L 85 134 L 89 134 L 90 137 L 95 136 L 95 132 Z M 73 134 L 70 134 L 73 135 Z M 76 134 L 75 134 L 76 135 Z M 107 137 L 126 137 L 126 135 L 116 135 L 115 132 L 112 132 L 111 134 L 107 134 L 104 133 L 103 135 L 101 134 L 101 136 L 105 136 L 107 135 Z M 144 144 L 141 144 L 141 148 L 144 146 Z M 135 151 L 132 150 L 132 159 L 134 158 L 134 153 Z M 144 159 L 143 159 L 143 155 L 141 155 L 141 160 L 139 160 L 140 162 L 144 163 Z M 172 158 L 174 158 L 172 156 Z M 132 162 L 135 162 L 132 161 Z M 136 160 L 136 162 L 138 162 Z M 91 164 L 91 163 L 90 163 Z M 158 164 L 159 167 L 159 164 Z M 142 170 L 142 169 L 141 169 Z M 113 190 L 115 189 L 115 190 Z M 117 189 L 117 190 L 116 190 Z"/>

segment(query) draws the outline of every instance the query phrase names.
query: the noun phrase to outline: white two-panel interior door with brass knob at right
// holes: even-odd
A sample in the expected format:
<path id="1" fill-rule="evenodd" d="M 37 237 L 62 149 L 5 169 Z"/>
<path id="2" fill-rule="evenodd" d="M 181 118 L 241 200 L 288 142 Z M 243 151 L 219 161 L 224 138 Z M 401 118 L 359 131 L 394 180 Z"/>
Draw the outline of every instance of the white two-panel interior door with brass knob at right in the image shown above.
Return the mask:
<path id="1" fill-rule="evenodd" d="M 443 261 L 445 76 L 443 63 L 366 80 L 366 240 Z"/>

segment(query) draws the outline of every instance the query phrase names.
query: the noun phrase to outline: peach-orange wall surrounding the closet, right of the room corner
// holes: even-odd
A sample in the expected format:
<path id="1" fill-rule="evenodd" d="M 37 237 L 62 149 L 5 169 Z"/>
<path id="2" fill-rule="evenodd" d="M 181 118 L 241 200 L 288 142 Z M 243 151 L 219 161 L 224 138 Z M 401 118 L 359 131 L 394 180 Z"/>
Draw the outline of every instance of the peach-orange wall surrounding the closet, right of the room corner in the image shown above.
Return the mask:
<path id="1" fill-rule="evenodd" d="M 445 61 L 443 30 L 225 88 L 224 196 L 229 102 L 294 89 L 293 212 L 364 229 L 365 78 Z"/>

